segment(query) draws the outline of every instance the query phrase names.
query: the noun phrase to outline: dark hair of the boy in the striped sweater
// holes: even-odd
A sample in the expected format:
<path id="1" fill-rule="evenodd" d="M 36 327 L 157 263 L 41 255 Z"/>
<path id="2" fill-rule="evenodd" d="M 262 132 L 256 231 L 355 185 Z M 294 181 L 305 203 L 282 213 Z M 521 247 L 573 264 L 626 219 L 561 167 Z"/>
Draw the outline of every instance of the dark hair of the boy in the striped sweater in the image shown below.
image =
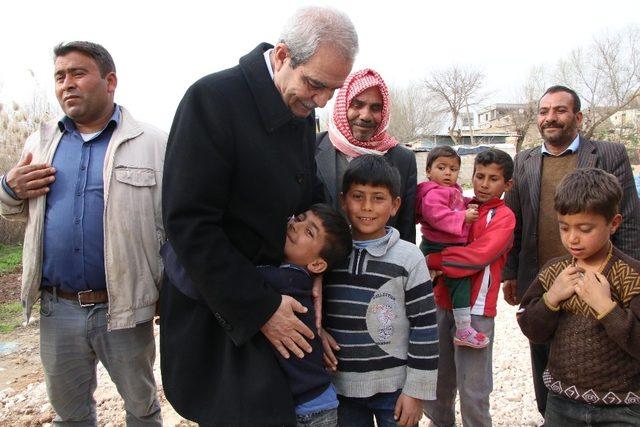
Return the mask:
<path id="1" fill-rule="evenodd" d="M 365 154 L 353 159 L 342 178 L 342 193 L 347 194 L 353 184 L 385 187 L 391 197 L 400 197 L 400 172 L 382 156 Z"/>

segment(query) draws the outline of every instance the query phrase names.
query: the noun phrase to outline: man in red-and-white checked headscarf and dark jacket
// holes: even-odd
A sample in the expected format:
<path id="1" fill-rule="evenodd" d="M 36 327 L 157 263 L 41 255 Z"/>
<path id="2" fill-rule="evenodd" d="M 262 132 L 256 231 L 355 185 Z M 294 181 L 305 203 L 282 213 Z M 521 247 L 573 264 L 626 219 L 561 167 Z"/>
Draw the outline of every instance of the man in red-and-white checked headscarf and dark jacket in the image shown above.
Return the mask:
<path id="1" fill-rule="evenodd" d="M 400 171 L 402 205 L 387 225 L 400 238 L 416 241 L 416 157 L 387 133 L 391 105 L 389 90 L 372 69 L 352 73 L 338 91 L 329 132 L 317 135 L 316 164 L 327 203 L 340 209 L 342 177 L 349 162 L 362 154 L 384 156 Z"/>

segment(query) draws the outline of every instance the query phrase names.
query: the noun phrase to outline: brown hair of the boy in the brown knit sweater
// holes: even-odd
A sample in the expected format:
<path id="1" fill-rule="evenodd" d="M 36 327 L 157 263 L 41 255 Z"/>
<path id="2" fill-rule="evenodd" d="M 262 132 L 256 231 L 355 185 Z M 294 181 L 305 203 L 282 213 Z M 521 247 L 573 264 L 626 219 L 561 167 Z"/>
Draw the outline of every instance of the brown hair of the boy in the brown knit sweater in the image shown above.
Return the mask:
<path id="1" fill-rule="evenodd" d="M 560 215 L 588 212 L 611 221 L 621 198 L 622 187 L 614 175 L 597 168 L 576 169 L 558 184 L 553 207 Z"/>

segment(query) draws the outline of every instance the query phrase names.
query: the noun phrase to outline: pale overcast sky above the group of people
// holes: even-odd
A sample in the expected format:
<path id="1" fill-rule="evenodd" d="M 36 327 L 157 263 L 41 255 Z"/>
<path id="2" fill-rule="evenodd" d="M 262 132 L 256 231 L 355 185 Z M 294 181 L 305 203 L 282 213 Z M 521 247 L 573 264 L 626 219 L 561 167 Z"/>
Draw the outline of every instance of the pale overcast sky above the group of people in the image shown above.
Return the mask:
<path id="1" fill-rule="evenodd" d="M 28 102 L 36 84 L 53 96 L 51 50 L 90 40 L 112 54 L 116 102 L 165 131 L 199 77 L 237 64 L 259 42 L 275 42 L 305 4 L 345 11 L 360 37 L 354 69 L 391 85 L 419 81 L 453 63 L 486 75 L 489 102 L 508 102 L 532 65 L 552 67 L 603 31 L 640 23 L 640 1 L 243 1 L 7 0 L 0 14 L 0 100 Z M 29 70 L 35 74 L 35 79 Z"/>

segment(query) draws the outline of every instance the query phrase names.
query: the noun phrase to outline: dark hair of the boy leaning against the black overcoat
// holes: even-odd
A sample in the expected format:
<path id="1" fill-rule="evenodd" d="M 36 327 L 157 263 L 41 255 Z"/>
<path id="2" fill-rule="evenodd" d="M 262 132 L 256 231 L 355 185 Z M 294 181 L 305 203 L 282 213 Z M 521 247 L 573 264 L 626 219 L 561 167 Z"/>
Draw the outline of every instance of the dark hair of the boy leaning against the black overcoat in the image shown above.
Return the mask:
<path id="1" fill-rule="evenodd" d="M 309 210 L 322 221 L 326 241 L 320 251 L 320 256 L 327 262 L 327 269 L 330 270 L 344 261 L 351 252 L 353 241 L 351 240 L 349 223 L 344 215 L 324 203 L 317 203 Z"/>

